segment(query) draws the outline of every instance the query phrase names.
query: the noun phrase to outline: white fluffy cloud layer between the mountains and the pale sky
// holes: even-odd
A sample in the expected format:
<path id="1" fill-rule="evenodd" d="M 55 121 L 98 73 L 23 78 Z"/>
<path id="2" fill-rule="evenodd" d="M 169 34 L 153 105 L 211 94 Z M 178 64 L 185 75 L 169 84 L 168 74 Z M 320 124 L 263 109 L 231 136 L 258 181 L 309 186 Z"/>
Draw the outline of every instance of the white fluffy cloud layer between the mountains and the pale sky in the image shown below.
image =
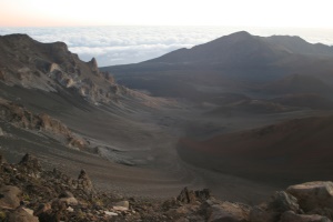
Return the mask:
<path id="1" fill-rule="evenodd" d="M 27 33 L 41 42 L 63 41 L 70 51 L 99 67 L 141 62 L 180 48 L 191 48 L 235 31 L 252 34 L 301 36 L 310 42 L 333 44 L 332 30 L 255 29 L 225 27 L 80 27 L 80 28 L 0 28 L 0 34 Z"/>

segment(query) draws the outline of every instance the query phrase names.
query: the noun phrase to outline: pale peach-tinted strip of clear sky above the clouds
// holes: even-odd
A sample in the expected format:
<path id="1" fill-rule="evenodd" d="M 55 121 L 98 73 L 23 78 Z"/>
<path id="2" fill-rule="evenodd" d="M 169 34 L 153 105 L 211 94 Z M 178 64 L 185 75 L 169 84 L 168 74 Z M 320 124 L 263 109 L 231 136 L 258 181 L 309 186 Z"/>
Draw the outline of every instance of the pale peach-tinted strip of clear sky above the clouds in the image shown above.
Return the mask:
<path id="1" fill-rule="evenodd" d="M 333 29 L 333 0 L 0 0 L 0 27 L 249 26 Z"/>

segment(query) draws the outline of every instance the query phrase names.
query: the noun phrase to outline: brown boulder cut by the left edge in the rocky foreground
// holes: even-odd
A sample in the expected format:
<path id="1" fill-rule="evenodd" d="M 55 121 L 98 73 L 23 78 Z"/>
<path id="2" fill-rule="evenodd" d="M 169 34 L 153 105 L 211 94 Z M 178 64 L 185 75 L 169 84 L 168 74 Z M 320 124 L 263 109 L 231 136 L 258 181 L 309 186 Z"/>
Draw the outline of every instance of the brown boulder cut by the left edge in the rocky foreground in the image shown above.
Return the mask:
<path id="1" fill-rule="evenodd" d="M 0 188 L 0 209 L 16 209 L 20 205 L 21 190 L 12 185 Z"/>

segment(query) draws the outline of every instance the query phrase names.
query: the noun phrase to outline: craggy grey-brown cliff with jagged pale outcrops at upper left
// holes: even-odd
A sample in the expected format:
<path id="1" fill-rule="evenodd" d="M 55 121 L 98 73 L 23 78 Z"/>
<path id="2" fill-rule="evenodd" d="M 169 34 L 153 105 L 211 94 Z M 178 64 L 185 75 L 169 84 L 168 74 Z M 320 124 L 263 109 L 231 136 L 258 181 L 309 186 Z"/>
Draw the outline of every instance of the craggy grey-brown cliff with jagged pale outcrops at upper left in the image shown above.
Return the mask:
<path id="1" fill-rule="evenodd" d="M 44 91 L 73 89 L 90 102 L 119 97 L 118 84 L 94 58 L 83 62 L 63 42 L 41 43 L 26 34 L 0 37 L 0 80 Z"/>

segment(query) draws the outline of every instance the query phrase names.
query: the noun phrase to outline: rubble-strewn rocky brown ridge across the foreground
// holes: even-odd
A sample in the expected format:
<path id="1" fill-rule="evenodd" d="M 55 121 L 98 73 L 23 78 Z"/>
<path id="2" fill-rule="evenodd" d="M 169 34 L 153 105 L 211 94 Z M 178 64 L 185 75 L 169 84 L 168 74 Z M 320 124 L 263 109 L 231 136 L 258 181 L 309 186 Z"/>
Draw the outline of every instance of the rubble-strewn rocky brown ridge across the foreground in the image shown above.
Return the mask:
<path id="1" fill-rule="evenodd" d="M 210 221 L 329 222 L 333 219 L 333 182 L 310 182 L 278 191 L 255 206 L 221 201 L 208 189 L 184 188 L 165 201 L 97 191 L 81 170 L 72 179 L 57 169 L 43 170 L 26 154 L 18 164 L 0 154 L 0 221 Z"/>

